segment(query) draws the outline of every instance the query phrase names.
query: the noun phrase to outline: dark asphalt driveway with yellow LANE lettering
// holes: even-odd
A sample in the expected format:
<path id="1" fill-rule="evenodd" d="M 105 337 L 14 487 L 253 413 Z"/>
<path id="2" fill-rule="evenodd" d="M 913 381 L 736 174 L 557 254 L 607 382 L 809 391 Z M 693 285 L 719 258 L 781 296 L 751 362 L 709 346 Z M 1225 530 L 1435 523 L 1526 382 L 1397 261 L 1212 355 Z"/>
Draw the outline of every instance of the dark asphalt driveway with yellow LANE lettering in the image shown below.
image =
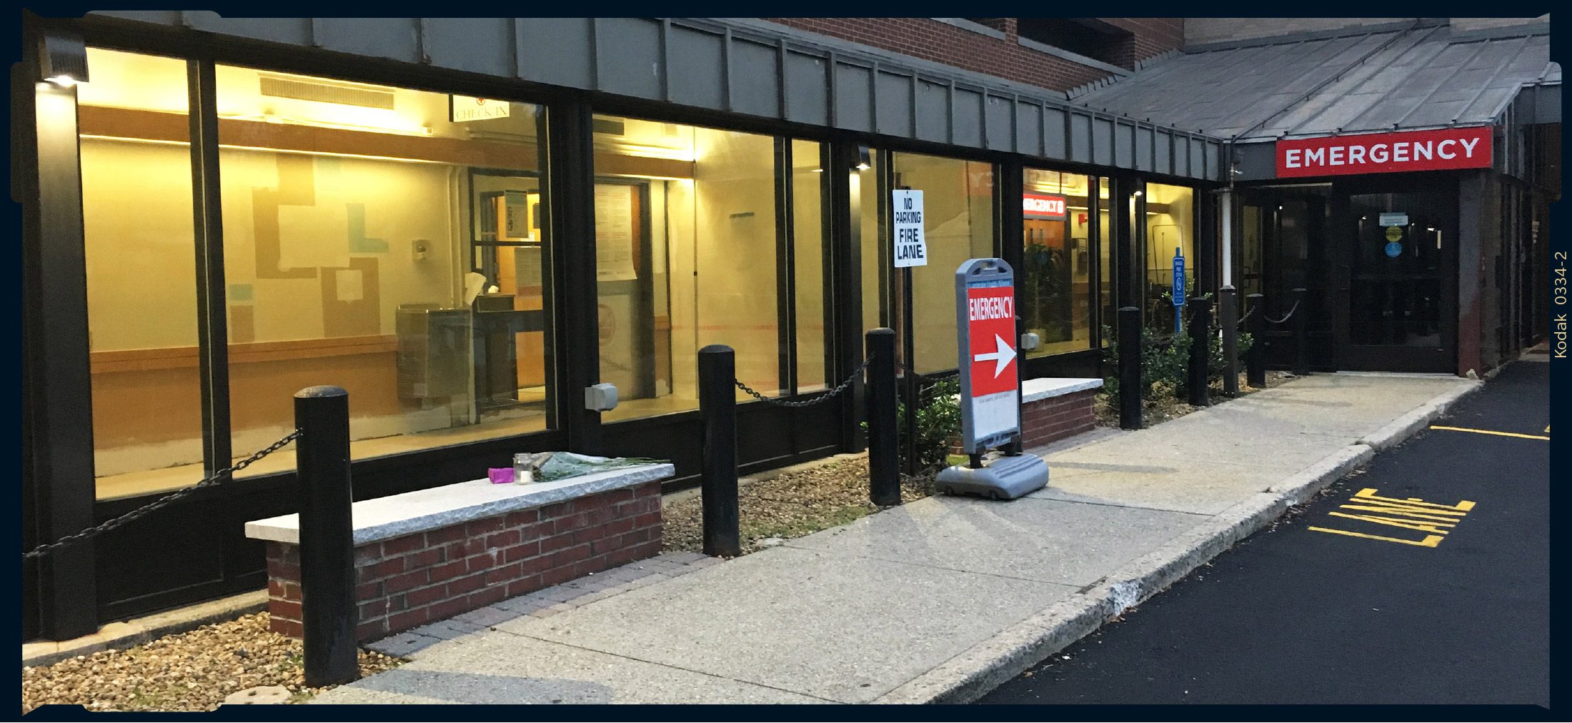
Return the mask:
<path id="1" fill-rule="evenodd" d="M 978 703 L 1548 707 L 1548 371 L 1509 365 L 1420 435 Z"/>

